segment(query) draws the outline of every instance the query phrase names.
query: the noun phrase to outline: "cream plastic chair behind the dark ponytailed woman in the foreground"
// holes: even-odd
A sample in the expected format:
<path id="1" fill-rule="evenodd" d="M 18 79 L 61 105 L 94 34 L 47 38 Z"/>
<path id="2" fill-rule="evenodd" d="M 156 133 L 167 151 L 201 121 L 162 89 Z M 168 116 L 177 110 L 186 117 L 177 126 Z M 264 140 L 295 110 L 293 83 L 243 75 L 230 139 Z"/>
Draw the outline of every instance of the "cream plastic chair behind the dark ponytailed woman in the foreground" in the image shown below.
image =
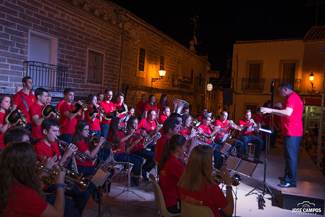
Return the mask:
<path id="1" fill-rule="evenodd" d="M 154 191 L 154 198 L 155 198 L 155 204 L 158 207 L 158 210 L 155 214 L 155 216 L 157 216 L 158 211 L 160 212 L 160 215 L 163 214 L 163 216 L 165 217 L 169 217 L 169 216 L 180 216 L 180 213 L 170 213 L 165 205 L 165 201 L 163 200 L 163 196 L 162 196 L 162 192 L 160 189 L 159 184 L 155 181 L 155 177 L 152 173 L 149 174 L 149 178 L 152 182 L 152 186 L 153 186 L 153 191 Z M 160 216 L 159 215 L 159 216 Z M 198 215 L 199 216 L 199 215 Z M 202 215 L 201 215 L 202 216 Z"/>

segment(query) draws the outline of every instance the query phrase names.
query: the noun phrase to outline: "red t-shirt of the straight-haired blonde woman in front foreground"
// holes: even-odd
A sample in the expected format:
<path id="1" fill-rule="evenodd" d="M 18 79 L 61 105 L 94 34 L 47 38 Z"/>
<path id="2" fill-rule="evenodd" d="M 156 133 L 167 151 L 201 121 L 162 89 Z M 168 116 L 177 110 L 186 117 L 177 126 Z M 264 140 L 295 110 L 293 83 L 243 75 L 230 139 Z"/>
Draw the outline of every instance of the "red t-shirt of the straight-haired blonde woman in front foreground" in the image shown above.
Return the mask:
<path id="1" fill-rule="evenodd" d="M 201 183 L 199 191 L 189 191 L 179 186 L 177 187 L 181 200 L 195 205 L 208 206 L 215 217 L 221 216 L 219 208 L 222 209 L 228 205 L 227 198 L 217 184 L 207 184 L 204 181 Z"/>

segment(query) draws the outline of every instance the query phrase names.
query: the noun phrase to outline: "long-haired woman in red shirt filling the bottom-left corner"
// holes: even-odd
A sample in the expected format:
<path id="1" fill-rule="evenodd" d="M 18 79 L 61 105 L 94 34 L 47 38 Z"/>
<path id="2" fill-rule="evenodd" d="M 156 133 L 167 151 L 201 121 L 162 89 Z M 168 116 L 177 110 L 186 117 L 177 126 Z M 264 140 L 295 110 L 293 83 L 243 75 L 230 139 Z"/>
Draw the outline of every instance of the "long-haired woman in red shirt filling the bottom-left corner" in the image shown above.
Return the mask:
<path id="1" fill-rule="evenodd" d="M 36 158 L 28 142 L 12 142 L 0 155 L 0 216 L 63 216 L 64 171 L 54 176 L 54 205 L 42 198 L 41 182 L 35 170 Z"/>

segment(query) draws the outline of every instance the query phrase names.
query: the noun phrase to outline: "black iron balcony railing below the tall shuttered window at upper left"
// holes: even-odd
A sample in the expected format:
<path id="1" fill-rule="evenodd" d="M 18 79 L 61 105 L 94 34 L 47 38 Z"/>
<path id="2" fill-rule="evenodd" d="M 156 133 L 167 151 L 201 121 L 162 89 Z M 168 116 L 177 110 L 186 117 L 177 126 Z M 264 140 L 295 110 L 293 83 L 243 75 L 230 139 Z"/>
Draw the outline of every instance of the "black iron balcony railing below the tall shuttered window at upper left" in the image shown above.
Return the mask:
<path id="1" fill-rule="evenodd" d="M 32 78 L 33 87 L 62 92 L 67 86 L 67 67 L 36 61 L 24 61 L 24 70 Z"/>

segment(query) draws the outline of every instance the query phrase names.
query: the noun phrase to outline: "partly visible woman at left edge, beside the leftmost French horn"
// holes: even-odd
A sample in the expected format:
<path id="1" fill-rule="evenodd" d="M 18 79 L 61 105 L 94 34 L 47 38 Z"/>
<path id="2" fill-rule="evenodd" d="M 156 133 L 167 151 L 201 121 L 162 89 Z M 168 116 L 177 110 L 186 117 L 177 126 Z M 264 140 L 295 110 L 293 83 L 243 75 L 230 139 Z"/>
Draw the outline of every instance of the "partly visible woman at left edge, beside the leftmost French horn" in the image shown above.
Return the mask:
<path id="1" fill-rule="evenodd" d="M 10 127 L 5 122 L 5 117 L 8 115 L 7 110 L 10 107 L 10 96 L 5 93 L 0 93 L 0 148 L 4 148 L 3 133 Z"/>

